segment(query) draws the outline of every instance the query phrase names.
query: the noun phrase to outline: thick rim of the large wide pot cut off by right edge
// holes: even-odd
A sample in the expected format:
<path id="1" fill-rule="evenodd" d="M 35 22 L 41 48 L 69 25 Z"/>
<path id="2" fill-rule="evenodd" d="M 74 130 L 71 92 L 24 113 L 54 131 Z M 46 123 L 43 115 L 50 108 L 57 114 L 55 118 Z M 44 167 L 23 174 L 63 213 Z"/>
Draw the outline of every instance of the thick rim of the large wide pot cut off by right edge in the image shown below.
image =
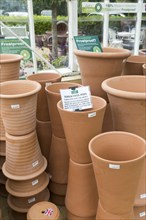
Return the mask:
<path id="1" fill-rule="evenodd" d="M 115 89 L 110 87 L 107 83 L 110 82 L 111 80 L 114 79 L 122 79 L 122 78 L 144 78 L 146 80 L 146 76 L 144 75 L 121 75 L 121 76 L 115 76 L 108 78 L 104 80 L 101 84 L 102 89 L 107 92 L 107 94 L 114 95 L 116 97 L 121 97 L 121 98 L 127 98 L 127 99 L 143 99 L 146 100 L 146 93 L 145 92 L 129 92 L 129 91 L 124 91 L 120 89 Z"/>

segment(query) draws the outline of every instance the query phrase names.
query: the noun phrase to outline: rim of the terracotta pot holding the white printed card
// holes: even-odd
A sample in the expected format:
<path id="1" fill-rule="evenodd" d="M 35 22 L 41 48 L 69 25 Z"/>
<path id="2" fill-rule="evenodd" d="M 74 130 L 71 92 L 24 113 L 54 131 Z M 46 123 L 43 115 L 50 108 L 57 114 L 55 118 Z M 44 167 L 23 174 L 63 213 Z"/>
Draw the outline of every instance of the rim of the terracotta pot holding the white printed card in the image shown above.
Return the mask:
<path id="1" fill-rule="evenodd" d="M 64 111 L 64 112 L 67 112 L 69 114 L 76 114 L 76 115 L 87 115 L 87 114 L 95 112 L 96 110 L 101 110 L 101 109 L 106 108 L 107 101 L 104 98 L 102 98 L 100 96 L 94 96 L 94 95 L 91 95 L 91 98 L 101 100 L 102 101 L 102 106 L 100 106 L 100 108 L 98 108 L 98 109 L 91 108 L 91 109 L 85 109 L 84 111 L 69 111 L 67 109 L 63 109 L 63 108 L 60 107 L 60 103 L 62 103 L 62 100 L 60 100 L 60 101 L 57 102 L 57 108 L 60 111 Z"/>

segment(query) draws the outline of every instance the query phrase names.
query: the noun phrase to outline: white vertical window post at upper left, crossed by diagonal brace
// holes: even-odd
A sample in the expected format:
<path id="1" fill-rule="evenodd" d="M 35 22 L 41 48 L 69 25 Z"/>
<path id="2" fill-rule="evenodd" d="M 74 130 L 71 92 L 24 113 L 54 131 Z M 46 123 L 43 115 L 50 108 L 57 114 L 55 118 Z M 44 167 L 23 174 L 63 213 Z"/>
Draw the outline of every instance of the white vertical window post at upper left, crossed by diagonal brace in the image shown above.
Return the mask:
<path id="1" fill-rule="evenodd" d="M 35 31 L 34 31 L 34 19 L 33 19 L 33 3 L 32 0 L 27 0 L 28 6 L 28 18 L 29 18 L 29 34 L 31 47 L 35 50 Z M 37 72 L 37 59 L 32 52 L 34 72 Z"/>

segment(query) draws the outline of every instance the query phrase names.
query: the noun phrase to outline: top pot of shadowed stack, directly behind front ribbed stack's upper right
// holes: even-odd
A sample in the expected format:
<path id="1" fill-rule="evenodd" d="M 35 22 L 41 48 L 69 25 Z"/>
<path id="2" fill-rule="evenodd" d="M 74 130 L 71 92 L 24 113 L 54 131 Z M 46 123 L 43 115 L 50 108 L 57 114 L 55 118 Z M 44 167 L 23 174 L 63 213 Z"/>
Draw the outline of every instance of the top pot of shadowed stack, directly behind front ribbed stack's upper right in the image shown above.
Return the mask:
<path id="1" fill-rule="evenodd" d="M 27 77 L 28 80 L 37 81 L 41 84 L 37 101 L 37 119 L 39 121 L 50 121 L 45 86 L 54 82 L 60 82 L 62 76 L 58 73 L 35 73 Z"/>

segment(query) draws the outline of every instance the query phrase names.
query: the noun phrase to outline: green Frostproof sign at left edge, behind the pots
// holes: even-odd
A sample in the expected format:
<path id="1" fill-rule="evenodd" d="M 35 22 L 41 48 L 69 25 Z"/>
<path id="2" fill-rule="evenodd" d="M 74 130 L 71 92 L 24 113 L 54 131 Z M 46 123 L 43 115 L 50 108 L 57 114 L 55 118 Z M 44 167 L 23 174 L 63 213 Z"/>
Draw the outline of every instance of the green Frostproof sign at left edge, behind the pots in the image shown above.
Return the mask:
<path id="1" fill-rule="evenodd" d="M 30 45 L 29 38 L 23 38 L 23 41 Z M 20 42 L 17 38 L 0 39 L 1 54 L 20 54 L 24 61 L 32 58 L 32 52 L 26 45 Z"/>

